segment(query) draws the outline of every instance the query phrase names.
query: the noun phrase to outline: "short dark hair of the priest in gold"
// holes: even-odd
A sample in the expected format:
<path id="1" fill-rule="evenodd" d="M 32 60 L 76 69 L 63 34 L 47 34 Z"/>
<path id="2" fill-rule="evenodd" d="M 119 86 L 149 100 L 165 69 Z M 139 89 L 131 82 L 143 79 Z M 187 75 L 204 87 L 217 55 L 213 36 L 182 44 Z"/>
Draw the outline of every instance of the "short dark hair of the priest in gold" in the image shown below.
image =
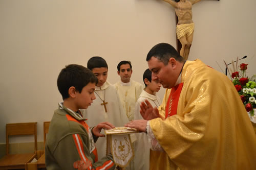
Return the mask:
<path id="1" fill-rule="evenodd" d="M 152 57 L 156 57 L 158 60 L 163 62 L 164 65 L 168 64 L 170 58 L 175 58 L 179 62 L 184 62 L 184 58 L 175 50 L 175 48 L 167 43 L 156 44 L 151 48 L 146 56 L 146 61 L 150 60 Z"/>

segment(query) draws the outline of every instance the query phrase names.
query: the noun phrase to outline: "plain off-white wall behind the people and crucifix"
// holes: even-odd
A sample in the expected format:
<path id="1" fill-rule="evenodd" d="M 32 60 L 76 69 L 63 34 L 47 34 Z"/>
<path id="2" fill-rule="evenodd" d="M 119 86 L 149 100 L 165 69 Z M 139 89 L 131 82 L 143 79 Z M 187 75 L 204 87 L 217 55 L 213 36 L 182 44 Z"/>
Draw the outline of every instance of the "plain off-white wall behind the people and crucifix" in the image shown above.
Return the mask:
<path id="1" fill-rule="evenodd" d="M 255 6 L 254 0 L 195 4 L 189 60 L 220 70 L 217 61 L 224 70 L 223 59 L 247 55 L 248 75 L 255 74 Z M 37 122 L 43 140 L 43 122 L 61 101 L 56 80 L 65 65 L 86 66 L 101 56 L 115 83 L 118 62 L 130 60 L 132 78 L 142 83 L 147 52 L 159 42 L 176 47 L 175 36 L 175 11 L 159 0 L 0 0 L 0 143 L 5 124 L 18 122 Z"/>

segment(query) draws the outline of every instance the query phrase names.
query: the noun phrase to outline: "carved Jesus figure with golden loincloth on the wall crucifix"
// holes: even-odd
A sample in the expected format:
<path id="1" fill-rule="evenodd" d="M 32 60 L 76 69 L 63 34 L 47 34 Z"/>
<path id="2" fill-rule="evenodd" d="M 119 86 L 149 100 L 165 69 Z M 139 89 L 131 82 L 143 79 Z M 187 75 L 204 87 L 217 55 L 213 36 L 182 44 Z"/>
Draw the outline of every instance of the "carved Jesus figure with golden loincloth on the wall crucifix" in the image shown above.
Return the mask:
<path id="1" fill-rule="evenodd" d="M 187 60 L 194 34 L 194 22 L 192 20 L 192 5 L 201 0 L 163 0 L 175 8 L 178 16 L 176 26 L 177 38 L 182 45 L 180 55 Z"/>

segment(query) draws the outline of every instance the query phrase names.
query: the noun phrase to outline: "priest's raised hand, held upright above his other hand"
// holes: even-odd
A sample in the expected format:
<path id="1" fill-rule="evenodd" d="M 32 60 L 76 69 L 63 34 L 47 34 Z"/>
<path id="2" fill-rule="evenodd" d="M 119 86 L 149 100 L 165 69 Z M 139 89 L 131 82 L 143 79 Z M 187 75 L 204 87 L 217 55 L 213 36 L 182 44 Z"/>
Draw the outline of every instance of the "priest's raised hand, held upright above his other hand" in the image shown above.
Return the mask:
<path id="1" fill-rule="evenodd" d="M 140 114 L 145 120 L 151 120 L 160 117 L 158 108 L 153 108 L 153 106 L 147 100 L 145 100 L 145 102 L 141 102 Z"/>

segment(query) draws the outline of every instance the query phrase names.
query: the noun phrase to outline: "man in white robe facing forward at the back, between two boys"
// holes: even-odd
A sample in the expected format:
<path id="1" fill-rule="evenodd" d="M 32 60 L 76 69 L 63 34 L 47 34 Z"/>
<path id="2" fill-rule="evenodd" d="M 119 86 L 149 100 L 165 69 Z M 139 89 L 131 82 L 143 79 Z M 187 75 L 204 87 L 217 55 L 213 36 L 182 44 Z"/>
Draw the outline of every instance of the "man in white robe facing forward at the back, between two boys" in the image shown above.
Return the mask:
<path id="1" fill-rule="evenodd" d="M 117 74 L 120 76 L 120 81 L 114 84 L 129 121 L 134 119 L 135 105 L 143 89 L 142 84 L 131 80 L 132 73 L 133 70 L 130 61 L 119 62 L 117 65 Z"/>

